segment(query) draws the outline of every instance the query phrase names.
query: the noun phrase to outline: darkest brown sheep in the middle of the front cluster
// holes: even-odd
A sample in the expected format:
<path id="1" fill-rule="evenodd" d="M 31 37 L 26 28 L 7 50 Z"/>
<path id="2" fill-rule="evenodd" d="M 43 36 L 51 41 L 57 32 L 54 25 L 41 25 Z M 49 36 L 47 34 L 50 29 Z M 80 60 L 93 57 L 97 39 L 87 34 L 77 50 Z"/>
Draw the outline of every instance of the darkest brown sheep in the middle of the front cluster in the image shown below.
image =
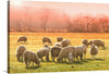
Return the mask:
<path id="1" fill-rule="evenodd" d="M 55 46 L 51 48 L 51 59 L 52 61 L 55 61 L 55 58 L 59 55 L 60 51 L 61 51 L 61 47 Z"/>

